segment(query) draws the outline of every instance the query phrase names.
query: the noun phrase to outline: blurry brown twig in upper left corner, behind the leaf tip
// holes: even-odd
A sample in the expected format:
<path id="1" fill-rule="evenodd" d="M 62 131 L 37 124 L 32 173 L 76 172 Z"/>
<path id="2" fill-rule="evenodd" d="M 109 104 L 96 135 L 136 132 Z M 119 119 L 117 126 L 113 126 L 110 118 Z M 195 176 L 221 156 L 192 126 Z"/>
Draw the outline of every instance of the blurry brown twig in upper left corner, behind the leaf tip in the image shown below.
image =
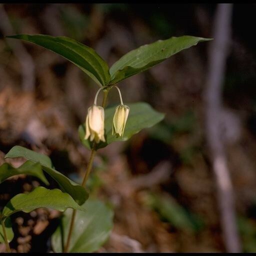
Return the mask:
<path id="1" fill-rule="evenodd" d="M 15 34 L 9 17 L 4 10 L 3 4 L 0 4 L 0 29 L 4 35 Z M 16 55 L 20 65 L 22 74 L 22 88 L 25 91 L 33 91 L 35 83 L 34 62 L 31 55 L 26 51 L 23 44 L 18 40 L 8 40 L 8 44 Z"/>

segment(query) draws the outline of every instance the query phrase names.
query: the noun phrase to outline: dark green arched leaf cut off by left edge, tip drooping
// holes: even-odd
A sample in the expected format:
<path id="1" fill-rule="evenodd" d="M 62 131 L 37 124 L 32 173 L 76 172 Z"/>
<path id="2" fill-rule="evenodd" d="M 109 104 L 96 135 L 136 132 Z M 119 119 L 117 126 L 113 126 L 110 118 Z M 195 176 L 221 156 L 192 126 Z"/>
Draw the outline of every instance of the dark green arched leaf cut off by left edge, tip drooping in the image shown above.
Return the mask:
<path id="1" fill-rule="evenodd" d="M 49 184 L 48 180 L 43 174 L 41 164 L 39 162 L 34 163 L 32 161 L 26 161 L 17 168 L 11 166 L 7 162 L 3 163 L 0 166 L 0 183 L 11 176 L 18 174 L 32 175 L 39 178 L 44 184 Z"/>

